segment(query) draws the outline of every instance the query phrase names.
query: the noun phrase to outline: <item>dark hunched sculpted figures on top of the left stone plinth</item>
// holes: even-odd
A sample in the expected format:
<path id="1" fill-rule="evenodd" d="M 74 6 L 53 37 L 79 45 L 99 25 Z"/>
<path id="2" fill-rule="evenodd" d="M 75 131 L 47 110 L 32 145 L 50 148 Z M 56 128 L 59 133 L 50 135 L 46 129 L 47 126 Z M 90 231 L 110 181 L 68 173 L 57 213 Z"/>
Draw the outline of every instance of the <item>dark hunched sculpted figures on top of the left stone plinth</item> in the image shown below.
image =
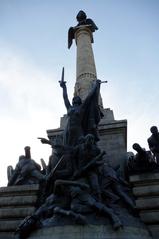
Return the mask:
<path id="1" fill-rule="evenodd" d="M 8 186 L 36 184 L 43 179 L 40 165 L 31 159 L 30 147 L 26 146 L 25 156 L 19 157 L 19 162 L 9 177 Z"/>

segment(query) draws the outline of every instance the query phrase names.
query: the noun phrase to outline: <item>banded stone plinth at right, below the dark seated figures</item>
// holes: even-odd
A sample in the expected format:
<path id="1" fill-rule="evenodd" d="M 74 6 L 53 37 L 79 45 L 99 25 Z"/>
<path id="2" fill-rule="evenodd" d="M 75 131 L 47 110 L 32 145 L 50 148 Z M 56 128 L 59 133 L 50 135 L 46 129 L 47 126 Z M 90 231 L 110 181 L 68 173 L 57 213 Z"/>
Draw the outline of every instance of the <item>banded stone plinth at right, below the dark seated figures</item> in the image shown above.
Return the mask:
<path id="1" fill-rule="evenodd" d="M 130 176 L 136 206 L 154 239 L 159 238 L 159 173 Z"/>

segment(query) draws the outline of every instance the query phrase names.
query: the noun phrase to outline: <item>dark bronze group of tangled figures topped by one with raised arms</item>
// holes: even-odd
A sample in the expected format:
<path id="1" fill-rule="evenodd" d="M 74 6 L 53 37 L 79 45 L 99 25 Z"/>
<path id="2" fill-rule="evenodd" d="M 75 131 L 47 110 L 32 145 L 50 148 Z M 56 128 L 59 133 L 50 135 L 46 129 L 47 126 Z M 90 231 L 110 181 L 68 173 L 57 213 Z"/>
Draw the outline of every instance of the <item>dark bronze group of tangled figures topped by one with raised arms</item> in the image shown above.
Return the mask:
<path id="1" fill-rule="evenodd" d="M 26 238 L 36 228 L 57 225 L 57 221 L 58 225 L 59 221 L 63 224 L 96 223 L 96 214 L 102 223 L 110 221 L 114 230 L 118 230 L 123 227 L 116 211 L 120 201 L 132 213 L 135 210 L 134 200 L 127 193 L 128 183 L 106 162 L 106 152 L 97 146 L 101 112 L 95 102 L 98 102 L 100 81 L 94 82 L 83 103 L 80 97 L 76 97 L 72 105 L 66 83 L 62 81 L 60 86 L 68 121 L 61 138 L 55 141 L 40 138 L 42 143 L 52 146 L 53 154 L 45 174 L 39 172 L 42 177 L 39 178 L 38 206 L 35 213 L 19 225 L 20 238 Z M 30 156 L 27 160 L 32 162 Z"/>

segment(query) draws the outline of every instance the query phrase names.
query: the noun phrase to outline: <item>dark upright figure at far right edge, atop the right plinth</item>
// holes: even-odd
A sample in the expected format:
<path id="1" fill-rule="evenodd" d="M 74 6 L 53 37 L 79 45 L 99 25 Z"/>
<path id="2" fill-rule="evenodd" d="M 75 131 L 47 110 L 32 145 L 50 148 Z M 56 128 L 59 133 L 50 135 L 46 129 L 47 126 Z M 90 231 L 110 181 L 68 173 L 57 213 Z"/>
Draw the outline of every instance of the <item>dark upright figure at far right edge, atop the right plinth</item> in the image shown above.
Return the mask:
<path id="1" fill-rule="evenodd" d="M 150 128 L 152 135 L 148 138 L 148 145 L 154 154 L 157 164 L 159 165 L 159 132 L 156 126 Z"/>

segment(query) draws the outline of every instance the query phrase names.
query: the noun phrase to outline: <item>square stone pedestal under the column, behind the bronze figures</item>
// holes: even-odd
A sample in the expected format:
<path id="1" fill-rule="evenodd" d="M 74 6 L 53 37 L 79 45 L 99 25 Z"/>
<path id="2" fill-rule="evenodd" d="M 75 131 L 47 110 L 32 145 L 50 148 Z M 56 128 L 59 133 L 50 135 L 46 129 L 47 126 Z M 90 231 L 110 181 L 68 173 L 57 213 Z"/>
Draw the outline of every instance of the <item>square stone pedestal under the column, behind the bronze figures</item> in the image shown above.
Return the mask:
<path id="1" fill-rule="evenodd" d="M 49 138 L 56 138 L 62 135 L 66 125 L 67 116 L 61 118 L 60 128 L 47 130 Z M 104 118 L 99 124 L 100 141 L 99 147 L 106 151 L 105 159 L 112 166 L 123 165 L 127 151 L 127 121 L 114 120 L 113 111 L 104 109 Z"/>

